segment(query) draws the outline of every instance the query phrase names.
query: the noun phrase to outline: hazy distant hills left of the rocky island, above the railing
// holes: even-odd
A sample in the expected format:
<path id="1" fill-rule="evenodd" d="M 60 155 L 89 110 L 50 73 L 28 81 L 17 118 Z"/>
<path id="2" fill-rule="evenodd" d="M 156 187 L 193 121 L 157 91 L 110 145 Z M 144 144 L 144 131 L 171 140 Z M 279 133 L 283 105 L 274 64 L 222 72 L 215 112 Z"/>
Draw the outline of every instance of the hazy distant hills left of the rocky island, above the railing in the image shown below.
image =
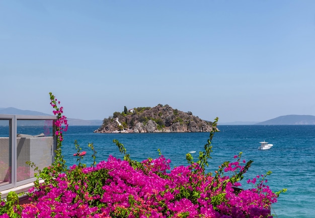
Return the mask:
<path id="1" fill-rule="evenodd" d="M 0 108 L 0 114 L 16 114 L 16 115 L 36 115 L 36 116 L 52 116 L 52 114 L 46 114 L 38 111 L 31 110 L 20 110 L 17 108 Z M 102 125 L 103 120 L 82 120 L 82 119 L 73 119 L 67 118 L 68 124 L 70 126 L 99 126 Z M 2 123 L 0 122 L 0 125 Z"/>

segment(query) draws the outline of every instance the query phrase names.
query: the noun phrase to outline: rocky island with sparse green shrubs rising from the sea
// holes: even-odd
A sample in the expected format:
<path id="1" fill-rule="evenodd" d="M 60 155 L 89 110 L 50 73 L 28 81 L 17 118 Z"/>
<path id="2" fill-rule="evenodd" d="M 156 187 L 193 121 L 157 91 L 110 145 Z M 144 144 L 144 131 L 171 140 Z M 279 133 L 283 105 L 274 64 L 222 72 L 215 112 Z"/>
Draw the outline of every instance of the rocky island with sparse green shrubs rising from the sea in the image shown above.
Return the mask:
<path id="1" fill-rule="evenodd" d="M 210 132 L 212 122 L 194 116 L 192 112 L 173 109 L 169 105 L 138 107 L 114 112 L 103 120 L 97 133 L 111 132 Z"/>

